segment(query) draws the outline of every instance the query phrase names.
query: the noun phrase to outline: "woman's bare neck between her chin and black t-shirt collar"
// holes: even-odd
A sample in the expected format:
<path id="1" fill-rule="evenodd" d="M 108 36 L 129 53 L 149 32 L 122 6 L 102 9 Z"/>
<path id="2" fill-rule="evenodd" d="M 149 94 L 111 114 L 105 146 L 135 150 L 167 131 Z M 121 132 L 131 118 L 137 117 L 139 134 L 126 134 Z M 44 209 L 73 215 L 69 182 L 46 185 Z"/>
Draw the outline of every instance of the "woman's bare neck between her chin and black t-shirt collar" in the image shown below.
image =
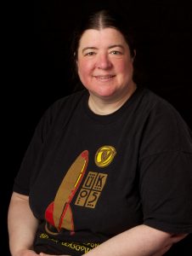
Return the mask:
<path id="1" fill-rule="evenodd" d="M 93 113 L 97 113 L 100 115 L 106 115 L 110 113 L 116 112 L 121 106 L 127 102 L 130 96 L 133 95 L 133 92 L 137 89 L 137 85 L 133 83 L 131 88 L 127 93 L 125 93 L 121 97 L 114 98 L 102 98 L 99 96 L 95 96 L 90 93 L 88 99 L 88 106 L 93 111 Z"/>

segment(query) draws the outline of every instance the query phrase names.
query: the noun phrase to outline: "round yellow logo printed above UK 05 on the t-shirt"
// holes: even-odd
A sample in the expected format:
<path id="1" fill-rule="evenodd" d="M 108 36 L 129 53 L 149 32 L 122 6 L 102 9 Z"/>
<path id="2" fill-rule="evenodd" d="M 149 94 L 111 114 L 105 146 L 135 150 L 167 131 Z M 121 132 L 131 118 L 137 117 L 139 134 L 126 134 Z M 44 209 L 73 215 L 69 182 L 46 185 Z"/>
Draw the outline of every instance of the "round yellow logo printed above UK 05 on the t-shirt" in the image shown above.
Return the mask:
<path id="1" fill-rule="evenodd" d="M 95 164 L 99 167 L 109 166 L 115 155 L 116 148 L 112 146 L 103 146 L 99 148 L 95 154 Z"/>

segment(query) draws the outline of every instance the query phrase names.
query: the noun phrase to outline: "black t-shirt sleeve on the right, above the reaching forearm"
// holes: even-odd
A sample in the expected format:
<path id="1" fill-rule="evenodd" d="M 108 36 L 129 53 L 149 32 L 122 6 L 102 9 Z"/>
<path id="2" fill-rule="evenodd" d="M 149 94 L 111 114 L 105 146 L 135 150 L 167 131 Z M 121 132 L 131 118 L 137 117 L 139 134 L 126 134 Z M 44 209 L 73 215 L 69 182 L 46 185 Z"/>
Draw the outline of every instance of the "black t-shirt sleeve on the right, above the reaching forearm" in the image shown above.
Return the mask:
<path id="1" fill-rule="evenodd" d="M 175 233 L 192 232 L 192 139 L 177 111 L 150 113 L 140 155 L 144 224 Z"/>

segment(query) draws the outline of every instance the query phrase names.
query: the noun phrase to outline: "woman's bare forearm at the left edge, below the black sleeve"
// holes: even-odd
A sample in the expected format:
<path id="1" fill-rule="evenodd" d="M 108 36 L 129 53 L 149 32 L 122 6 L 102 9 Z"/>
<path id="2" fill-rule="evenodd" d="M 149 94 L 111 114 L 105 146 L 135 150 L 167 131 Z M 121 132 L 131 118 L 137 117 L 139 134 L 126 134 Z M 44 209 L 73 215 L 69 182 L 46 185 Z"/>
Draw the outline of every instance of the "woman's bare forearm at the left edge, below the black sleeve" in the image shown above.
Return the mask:
<path id="1" fill-rule="evenodd" d="M 13 193 L 8 208 L 8 236 L 12 256 L 35 256 L 32 251 L 37 218 L 29 207 L 29 197 Z"/>

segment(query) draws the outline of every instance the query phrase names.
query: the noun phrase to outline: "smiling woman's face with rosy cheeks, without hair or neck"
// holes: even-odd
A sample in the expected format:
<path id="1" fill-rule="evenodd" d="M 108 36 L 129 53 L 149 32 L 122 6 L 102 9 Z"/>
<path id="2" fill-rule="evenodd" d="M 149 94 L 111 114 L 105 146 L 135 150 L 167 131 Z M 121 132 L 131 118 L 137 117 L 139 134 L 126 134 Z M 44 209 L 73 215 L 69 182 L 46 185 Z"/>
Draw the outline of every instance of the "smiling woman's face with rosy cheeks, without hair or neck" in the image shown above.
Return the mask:
<path id="1" fill-rule="evenodd" d="M 93 96 L 121 98 L 133 86 L 133 58 L 125 38 L 114 28 L 85 31 L 76 64 L 82 84 Z"/>

